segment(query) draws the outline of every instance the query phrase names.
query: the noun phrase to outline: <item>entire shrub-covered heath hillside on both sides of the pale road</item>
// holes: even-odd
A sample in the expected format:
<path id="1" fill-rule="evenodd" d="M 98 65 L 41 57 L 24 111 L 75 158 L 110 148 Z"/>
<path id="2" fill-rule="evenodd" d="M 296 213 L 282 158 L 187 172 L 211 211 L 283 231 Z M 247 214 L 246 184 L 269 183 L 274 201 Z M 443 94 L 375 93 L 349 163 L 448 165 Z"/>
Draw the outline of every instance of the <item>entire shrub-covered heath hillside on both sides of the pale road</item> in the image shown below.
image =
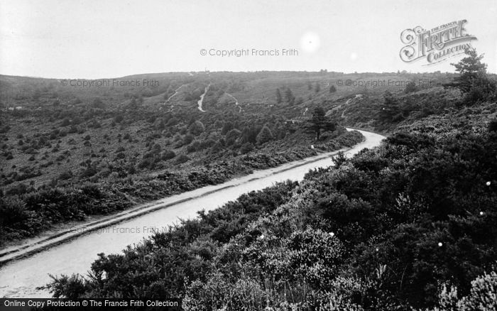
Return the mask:
<path id="1" fill-rule="evenodd" d="M 3 241 L 352 146 L 355 126 L 388 138 L 48 288 L 188 310 L 472 310 L 497 285 L 497 92 L 460 77 L 176 73 L 95 92 L 1 77 Z"/>

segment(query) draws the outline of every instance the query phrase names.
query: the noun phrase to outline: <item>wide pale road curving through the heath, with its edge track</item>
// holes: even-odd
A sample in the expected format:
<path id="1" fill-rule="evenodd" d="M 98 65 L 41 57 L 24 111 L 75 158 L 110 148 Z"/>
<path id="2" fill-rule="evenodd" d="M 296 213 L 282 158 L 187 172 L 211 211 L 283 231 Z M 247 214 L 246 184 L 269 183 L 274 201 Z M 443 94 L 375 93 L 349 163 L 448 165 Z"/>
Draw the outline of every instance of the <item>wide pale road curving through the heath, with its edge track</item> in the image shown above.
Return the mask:
<path id="1" fill-rule="evenodd" d="M 349 157 L 363 148 L 378 146 L 385 138 L 368 131 L 360 132 L 365 140 L 342 150 Z M 258 170 L 219 185 L 166 197 L 81 224 L 58 236 L 31 239 L 20 246 L 4 249 L 0 251 L 0 265 L 3 265 L 0 267 L 0 297 L 48 298 L 50 293 L 38 288 L 50 282 L 48 273 L 86 274 L 97 253 L 119 253 L 126 246 L 150 236 L 154 230 L 178 224 L 180 219 L 196 217 L 202 209 L 206 212 L 216 209 L 246 192 L 288 179 L 302 180 L 309 170 L 332 165 L 330 158 L 337 153 L 322 153 L 278 168 Z"/>

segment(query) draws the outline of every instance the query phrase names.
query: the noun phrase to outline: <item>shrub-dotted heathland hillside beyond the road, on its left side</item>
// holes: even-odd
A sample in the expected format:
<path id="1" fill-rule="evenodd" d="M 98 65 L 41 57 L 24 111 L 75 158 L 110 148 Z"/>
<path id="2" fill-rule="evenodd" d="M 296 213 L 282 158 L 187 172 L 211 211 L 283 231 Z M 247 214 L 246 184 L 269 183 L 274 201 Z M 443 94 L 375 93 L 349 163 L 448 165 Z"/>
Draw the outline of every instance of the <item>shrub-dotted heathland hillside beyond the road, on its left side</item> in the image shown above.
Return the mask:
<path id="1" fill-rule="evenodd" d="M 300 83 L 319 76 L 178 73 L 115 79 L 141 82 L 139 87 L 1 76 L 0 244 L 362 140 L 359 132 L 337 126 L 316 141 L 305 125 L 318 104 L 301 116 L 304 108 L 293 98 L 262 100 L 268 76 L 283 92 L 281 85 L 292 75 Z M 155 87 L 143 87 L 144 80 Z M 278 88 L 268 87 L 273 94 Z"/>

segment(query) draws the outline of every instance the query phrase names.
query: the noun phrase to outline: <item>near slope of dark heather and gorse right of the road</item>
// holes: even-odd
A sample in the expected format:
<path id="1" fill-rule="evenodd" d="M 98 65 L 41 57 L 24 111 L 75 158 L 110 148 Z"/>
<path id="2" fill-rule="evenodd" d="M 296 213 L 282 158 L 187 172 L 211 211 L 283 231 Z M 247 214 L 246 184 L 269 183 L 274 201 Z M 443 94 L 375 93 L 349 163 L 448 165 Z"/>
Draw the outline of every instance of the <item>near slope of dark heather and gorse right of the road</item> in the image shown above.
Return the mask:
<path id="1" fill-rule="evenodd" d="M 180 297 L 187 310 L 491 310 L 497 93 L 486 79 L 466 92 L 327 99 L 328 115 L 390 135 L 302 182 L 102 253 L 89 275 L 56 276 L 49 288 L 55 297 Z"/>

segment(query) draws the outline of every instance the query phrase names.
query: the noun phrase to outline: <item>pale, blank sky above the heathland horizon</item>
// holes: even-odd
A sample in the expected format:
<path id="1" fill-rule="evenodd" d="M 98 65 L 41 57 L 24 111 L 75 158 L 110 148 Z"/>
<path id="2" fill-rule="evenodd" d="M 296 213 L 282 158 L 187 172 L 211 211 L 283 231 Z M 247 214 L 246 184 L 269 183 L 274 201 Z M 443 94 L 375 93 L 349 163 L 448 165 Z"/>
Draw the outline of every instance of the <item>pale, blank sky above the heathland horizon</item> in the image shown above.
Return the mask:
<path id="1" fill-rule="evenodd" d="M 400 34 L 459 20 L 495 73 L 496 16 L 497 0 L 0 0 L 0 74 L 453 72 L 461 55 L 403 62 Z"/>

